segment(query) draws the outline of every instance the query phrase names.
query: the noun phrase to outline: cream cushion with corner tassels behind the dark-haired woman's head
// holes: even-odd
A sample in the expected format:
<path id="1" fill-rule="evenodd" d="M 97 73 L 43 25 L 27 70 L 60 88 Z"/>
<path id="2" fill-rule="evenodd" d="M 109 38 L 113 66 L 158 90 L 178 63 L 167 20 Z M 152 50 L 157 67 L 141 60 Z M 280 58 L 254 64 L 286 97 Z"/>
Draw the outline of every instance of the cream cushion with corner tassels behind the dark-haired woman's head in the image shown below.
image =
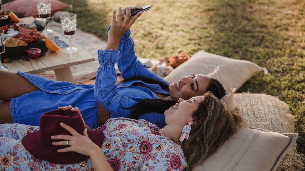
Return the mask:
<path id="1" fill-rule="evenodd" d="M 174 83 L 186 75 L 207 75 L 213 72 L 217 66 L 220 66 L 222 80 L 229 92 L 231 87 L 239 89 L 257 71 L 268 73 L 266 68 L 262 68 L 253 62 L 226 58 L 201 50 L 188 61 L 175 68 L 164 79 L 169 83 Z M 214 74 L 215 78 L 218 77 L 217 73 Z"/>

